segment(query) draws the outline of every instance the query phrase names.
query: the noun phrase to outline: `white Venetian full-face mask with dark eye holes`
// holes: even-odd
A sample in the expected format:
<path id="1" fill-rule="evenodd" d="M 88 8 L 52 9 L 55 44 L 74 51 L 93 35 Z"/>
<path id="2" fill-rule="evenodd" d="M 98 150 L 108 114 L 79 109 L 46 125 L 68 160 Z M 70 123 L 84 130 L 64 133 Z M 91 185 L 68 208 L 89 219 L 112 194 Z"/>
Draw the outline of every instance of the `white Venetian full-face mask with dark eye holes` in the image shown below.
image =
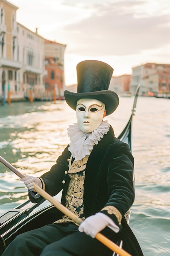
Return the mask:
<path id="1" fill-rule="evenodd" d="M 76 106 L 77 125 L 83 132 L 92 132 L 106 115 L 105 104 L 97 99 L 79 99 Z"/>

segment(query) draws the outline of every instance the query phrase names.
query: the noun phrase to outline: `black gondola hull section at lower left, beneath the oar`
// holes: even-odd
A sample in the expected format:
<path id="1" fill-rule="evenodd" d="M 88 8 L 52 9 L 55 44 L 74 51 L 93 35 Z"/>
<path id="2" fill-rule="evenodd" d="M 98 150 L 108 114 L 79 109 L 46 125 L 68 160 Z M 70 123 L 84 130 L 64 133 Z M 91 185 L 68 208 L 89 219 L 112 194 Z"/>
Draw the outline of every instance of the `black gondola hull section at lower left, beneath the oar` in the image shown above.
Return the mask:
<path id="1" fill-rule="evenodd" d="M 28 200 L 28 205 L 30 201 Z M 40 204 L 39 204 L 40 205 Z M 22 205 L 20 205 L 22 207 Z M 26 206 L 26 205 L 24 205 Z M 35 206 L 38 207 L 37 204 Z M 35 207 L 34 207 L 35 208 Z M 30 209 L 12 209 L 0 217 L 0 255 L 11 241 L 19 234 L 53 223 L 62 213 L 49 204 L 42 209 L 33 211 Z M 6 217 L 9 217 L 3 223 Z"/>

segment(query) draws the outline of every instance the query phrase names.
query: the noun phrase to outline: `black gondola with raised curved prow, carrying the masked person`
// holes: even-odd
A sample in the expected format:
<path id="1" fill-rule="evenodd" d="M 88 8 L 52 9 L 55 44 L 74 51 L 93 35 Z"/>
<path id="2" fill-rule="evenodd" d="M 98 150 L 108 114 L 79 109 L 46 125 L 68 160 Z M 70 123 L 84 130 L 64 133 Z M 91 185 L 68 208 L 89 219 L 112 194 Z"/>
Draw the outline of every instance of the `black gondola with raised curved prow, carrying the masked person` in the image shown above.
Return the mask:
<path id="1" fill-rule="evenodd" d="M 132 119 L 135 113 L 137 97 L 139 92 L 138 85 L 135 99 L 132 107 L 132 113 L 130 119 L 125 126 L 124 130 L 117 137 L 118 139 L 126 142 L 132 152 Z M 0 157 L 0 162 L 3 162 L 3 158 Z M 7 166 L 8 167 L 8 166 Z M 12 171 L 12 169 L 11 169 Z M 57 196 L 55 197 L 57 199 Z M 7 211 L 0 216 L 0 255 L 4 249 L 11 243 L 11 241 L 25 231 L 42 227 L 43 225 L 52 223 L 56 220 L 55 215 L 58 209 L 49 201 L 42 199 L 40 202 L 34 204 L 30 200 L 18 205 L 17 207 Z M 125 214 L 127 222 L 130 219 L 130 211 Z M 117 241 L 117 245 L 122 247 L 122 242 Z"/>

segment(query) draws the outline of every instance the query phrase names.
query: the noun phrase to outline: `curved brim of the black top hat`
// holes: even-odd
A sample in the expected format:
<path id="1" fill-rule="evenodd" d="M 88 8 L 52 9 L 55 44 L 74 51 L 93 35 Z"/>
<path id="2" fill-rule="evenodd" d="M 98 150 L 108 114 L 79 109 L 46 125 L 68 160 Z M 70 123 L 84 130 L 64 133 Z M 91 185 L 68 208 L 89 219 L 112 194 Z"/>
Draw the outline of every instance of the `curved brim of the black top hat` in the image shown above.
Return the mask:
<path id="1" fill-rule="evenodd" d="M 110 90 L 102 90 L 97 92 L 69 92 L 64 91 L 64 97 L 68 106 L 76 110 L 77 101 L 79 99 L 97 99 L 105 104 L 106 116 L 113 113 L 119 105 L 119 97 L 116 92 Z"/>

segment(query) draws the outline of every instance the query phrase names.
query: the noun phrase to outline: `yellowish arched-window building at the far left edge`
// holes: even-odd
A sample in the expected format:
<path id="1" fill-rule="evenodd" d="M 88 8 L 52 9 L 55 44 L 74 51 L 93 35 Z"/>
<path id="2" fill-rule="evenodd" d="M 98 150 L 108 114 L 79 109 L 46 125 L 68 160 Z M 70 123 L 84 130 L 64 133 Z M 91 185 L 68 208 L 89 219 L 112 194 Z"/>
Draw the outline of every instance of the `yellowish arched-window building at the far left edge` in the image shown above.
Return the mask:
<path id="1" fill-rule="evenodd" d="M 6 0 L 0 0 L 0 99 L 2 101 L 22 95 L 18 77 L 22 63 L 19 61 L 17 9 L 18 7 Z"/>

